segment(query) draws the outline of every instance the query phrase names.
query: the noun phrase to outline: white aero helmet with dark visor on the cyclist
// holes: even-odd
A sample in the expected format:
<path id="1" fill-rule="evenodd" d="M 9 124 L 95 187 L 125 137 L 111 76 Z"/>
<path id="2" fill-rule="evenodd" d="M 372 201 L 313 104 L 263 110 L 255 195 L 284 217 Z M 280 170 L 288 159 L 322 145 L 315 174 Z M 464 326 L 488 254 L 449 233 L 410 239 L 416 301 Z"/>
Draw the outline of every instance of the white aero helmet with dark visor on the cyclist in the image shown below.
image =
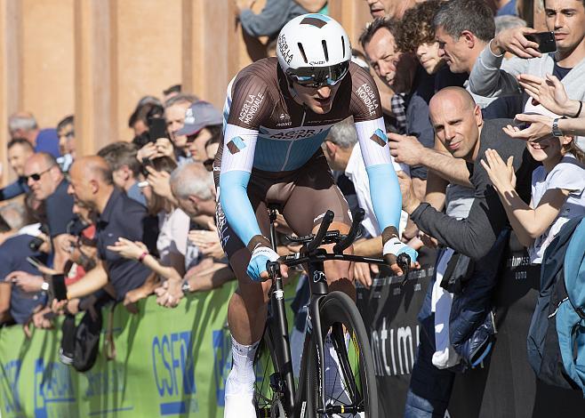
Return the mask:
<path id="1" fill-rule="evenodd" d="M 309 87 L 334 85 L 349 70 L 349 36 L 329 16 L 302 14 L 286 23 L 280 31 L 276 57 L 284 74 L 299 84 Z"/>

